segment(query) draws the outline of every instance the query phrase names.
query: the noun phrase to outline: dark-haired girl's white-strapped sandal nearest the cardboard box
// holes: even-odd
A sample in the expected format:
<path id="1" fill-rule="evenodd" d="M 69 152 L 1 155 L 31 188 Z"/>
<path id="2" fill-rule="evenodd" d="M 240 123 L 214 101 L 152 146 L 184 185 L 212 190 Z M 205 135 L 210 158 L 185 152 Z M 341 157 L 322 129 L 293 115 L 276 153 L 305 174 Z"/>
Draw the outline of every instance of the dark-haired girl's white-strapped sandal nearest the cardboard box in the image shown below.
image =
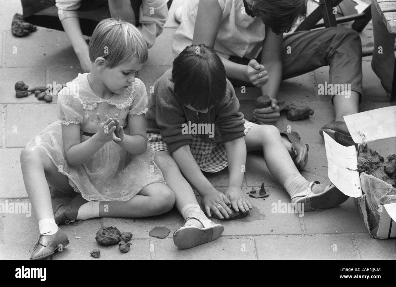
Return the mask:
<path id="1" fill-rule="evenodd" d="M 320 182 L 312 181 L 308 188 L 293 195 L 291 202 L 294 205 L 298 203 L 304 204 L 304 211 L 312 211 L 336 207 L 345 202 L 349 196 L 343 194 L 334 184 L 320 186 Z"/>

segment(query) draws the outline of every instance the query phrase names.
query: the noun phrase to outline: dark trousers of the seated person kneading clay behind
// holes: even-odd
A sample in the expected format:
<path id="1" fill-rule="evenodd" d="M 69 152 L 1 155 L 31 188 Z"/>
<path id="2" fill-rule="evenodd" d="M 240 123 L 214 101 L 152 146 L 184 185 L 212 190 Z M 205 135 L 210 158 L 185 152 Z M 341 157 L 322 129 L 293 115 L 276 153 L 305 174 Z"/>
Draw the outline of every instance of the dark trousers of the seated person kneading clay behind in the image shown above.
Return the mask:
<path id="1" fill-rule="evenodd" d="M 229 60 L 242 65 L 250 61 L 234 56 Z M 261 63 L 261 52 L 257 62 Z M 328 84 L 350 84 L 352 91 L 362 95 L 362 43 L 352 29 L 332 27 L 289 34 L 283 39 L 282 63 L 282 80 L 329 66 Z M 253 86 L 229 80 L 235 87 Z"/>

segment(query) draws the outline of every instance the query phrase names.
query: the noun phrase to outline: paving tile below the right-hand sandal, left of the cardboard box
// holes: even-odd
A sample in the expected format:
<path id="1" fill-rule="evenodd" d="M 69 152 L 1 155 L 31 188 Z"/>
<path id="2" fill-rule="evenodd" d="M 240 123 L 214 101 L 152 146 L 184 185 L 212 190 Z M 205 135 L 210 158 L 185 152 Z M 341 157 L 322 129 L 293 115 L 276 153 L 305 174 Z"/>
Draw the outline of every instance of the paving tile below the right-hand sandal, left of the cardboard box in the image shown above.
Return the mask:
<path id="1" fill-rule="evenodd" d="M 354 198 L 338 207 L 306 212 L 303 220 L 308 234 L 367 232 Z"/>

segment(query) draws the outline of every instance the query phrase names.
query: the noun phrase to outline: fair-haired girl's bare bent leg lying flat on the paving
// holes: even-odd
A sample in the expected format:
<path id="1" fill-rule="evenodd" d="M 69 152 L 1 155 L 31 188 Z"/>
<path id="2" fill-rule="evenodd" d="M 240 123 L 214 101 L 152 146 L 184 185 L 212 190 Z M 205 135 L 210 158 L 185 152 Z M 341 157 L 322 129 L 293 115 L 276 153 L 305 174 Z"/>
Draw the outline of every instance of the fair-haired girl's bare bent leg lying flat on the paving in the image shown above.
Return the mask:
<path id="1" fill-rule="evenodd" d="M 154 182 L 128 201 L 100 201 L 99 215 L 126 218 L 154 216 L 168 212 L 174 204 L 172 190 L 163 182 Z"/>

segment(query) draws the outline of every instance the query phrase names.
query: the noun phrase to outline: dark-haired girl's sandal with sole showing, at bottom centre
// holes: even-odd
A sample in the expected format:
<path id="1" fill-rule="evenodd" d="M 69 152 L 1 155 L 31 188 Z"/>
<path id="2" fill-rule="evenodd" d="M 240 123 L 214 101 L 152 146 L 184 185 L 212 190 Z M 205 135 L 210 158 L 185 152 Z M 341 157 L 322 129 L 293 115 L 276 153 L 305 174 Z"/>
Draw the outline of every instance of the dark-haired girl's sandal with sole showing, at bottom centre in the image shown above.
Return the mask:
<path id="1" fill-rule="evenodd" d="M 197 228 L 195 225 L 187 224 L 191 219 L 198 220 L 203 228 Z M 219 238 L 223 231 L 224 226 L 215 224 L 209 219 L 187 217 L 185 225 L 173 234 L 173 243 L 181 249 L 188 249 Z"/>

